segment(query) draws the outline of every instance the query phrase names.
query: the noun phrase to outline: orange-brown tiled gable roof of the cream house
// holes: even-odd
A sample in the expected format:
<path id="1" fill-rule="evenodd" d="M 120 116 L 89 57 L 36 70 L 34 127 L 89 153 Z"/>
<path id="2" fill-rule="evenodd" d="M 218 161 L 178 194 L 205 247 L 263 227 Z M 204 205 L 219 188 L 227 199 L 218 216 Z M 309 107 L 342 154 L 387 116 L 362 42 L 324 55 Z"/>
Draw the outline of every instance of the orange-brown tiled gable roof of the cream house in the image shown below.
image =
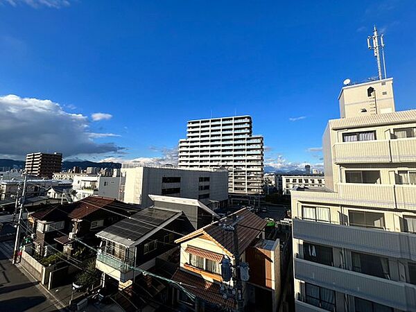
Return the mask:
<path id="1" fill-rule="evenodd" d="M 237 225 L 237 235 L 239 236 L 239 250 L 241 253 L 244 252 L 250 243 L 256 238 L 257 235 L 266 227 L 267 221 L 263 218 L 257 216 L 257 214 L 252 213 L 247 208 L 241 209 L 234 212 L 230 216 L 241 216 L 243 219 Z M 229 216 L 227 217 L 227 223 L 231 220 Z M 221 219 L 219 222 L 224 222 L 224 219 Z M 218 226 L 218 221 L 211 223 L 201 229 L 192 232 L 181 239 L 177 239 L 176 243 L 182 243 L 183 241 L 189 241 L 196 236 L 206 234 L 210 236 L 218 245 L 222 246 L 230 254 L 234 253 L 234 238 L 233 233 L 225 231 L 223 227 Z"/>

